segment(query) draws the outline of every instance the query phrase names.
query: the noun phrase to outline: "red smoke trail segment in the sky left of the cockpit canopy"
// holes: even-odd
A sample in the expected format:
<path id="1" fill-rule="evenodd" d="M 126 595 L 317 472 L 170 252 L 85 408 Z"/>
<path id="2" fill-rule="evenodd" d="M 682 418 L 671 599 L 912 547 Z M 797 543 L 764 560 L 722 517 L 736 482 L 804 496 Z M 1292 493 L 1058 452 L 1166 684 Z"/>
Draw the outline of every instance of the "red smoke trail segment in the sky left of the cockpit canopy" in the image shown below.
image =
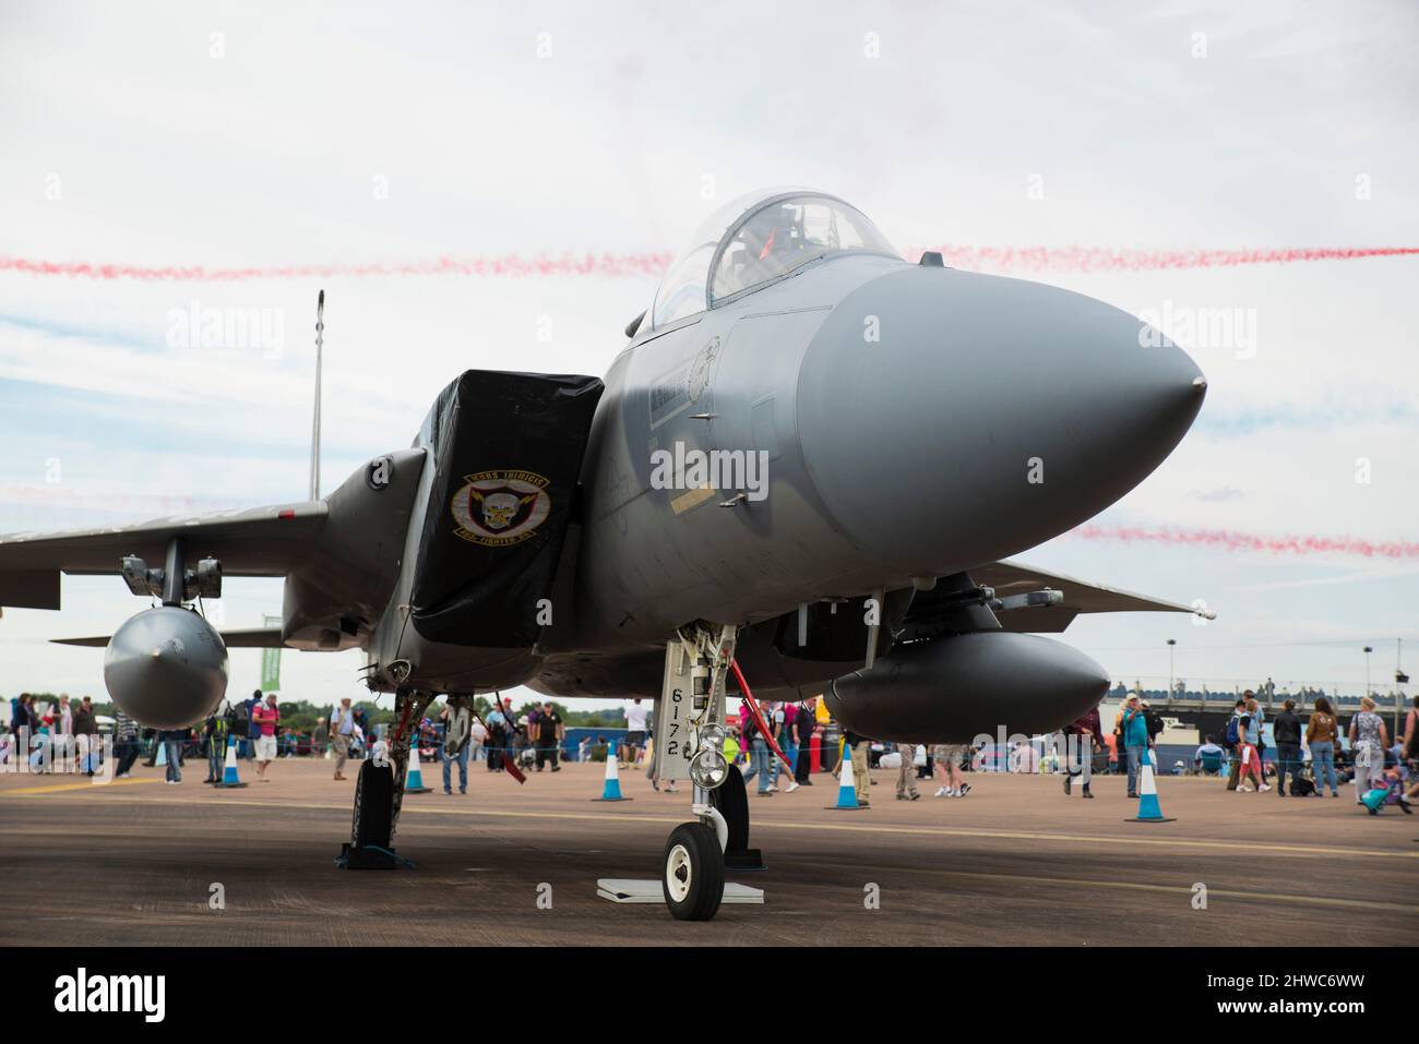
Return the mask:
<path id="1" fill-rule="evenodd" d="M 140 279 L 149 282 L 324 279 L 363 275 L 478 275 L 521 279 L 539 275 L 658 277 L 670 267 L 671 260 L 670 254 L 562 254 L 559 257 L 501 254 L 492 257 L 438 257 L 430 261 L 216 268 L 209 265 L 129 265 L 0 257 L 0 272 L 68 275 L 82 279 Z"/>

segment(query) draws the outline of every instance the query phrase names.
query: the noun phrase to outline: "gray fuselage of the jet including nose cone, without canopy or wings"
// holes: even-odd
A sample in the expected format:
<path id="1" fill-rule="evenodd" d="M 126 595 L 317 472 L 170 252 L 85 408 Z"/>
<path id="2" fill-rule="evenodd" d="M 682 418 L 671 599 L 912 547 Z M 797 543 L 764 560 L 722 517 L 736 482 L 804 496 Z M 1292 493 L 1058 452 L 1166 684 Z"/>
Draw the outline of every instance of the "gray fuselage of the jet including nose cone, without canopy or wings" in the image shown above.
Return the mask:
<path id="1" fill-rule="evenodd" d="M 690 621 L 753 626 L 1063 533 L 1200 406 L 1192 360 L 1141 329 L 1069 291 L 867 252 L 641 329 L 604 379 L 552 624 L 477 662 L 427 650 L 424 684 L 654 695 L 654 654 Z M 660 488 L 656 452 L 695 450 L 762 454 L 762 499 L 680 474 Z"/>

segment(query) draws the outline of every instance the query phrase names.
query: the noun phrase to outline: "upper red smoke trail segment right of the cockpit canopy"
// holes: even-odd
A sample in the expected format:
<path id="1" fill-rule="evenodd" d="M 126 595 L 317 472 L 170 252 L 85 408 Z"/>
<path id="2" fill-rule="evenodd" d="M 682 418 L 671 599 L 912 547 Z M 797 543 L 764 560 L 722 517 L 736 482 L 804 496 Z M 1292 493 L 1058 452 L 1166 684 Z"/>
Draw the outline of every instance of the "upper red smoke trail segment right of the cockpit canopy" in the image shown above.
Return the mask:
<path id="1" fill-rule="evenodd" d="M 952 268 L 993 272 L 1147 272 L 1165 268 L 1235 268 L 1294 261 L 1405 257 L 1419 247 L 1300 247 L 1291 250 L 1115 250 L 1112 247 L 927 247 Z M 920 257 L 921 250 L 907 252 Z"/>

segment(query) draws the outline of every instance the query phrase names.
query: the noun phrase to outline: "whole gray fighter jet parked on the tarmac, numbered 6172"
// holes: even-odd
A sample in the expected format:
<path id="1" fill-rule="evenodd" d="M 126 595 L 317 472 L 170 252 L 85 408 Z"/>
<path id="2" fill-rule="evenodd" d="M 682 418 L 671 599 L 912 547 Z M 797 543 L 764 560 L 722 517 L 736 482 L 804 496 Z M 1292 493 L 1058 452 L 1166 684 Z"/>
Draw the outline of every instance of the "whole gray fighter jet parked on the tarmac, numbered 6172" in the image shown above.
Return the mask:
<path id="1" fill-rule="evenodd" d="M 463 721 L 514 685 L 657 699 L 660 772 L 695 784 L 666 845 L 683 919 L 714 916 L 746 851 L 731 695 L 823 694 L 891 740 L 1039 733 L 1110 684 L 1042 633 L 1205 611 L 1009 560 L 1132 489 L 1202 406 L 1196 365 L 1127 312 L 912 264 L 790 187 L 712 214 L 626 338 L 604 379 L 461 373 L 410 448 L 328 496 L 0 538 L 0 604 L 58 609 L 61 572 L 160 600 L 75 640 L 155 726 L 217 705 L 227 648 L 363 650 L 397 725 L 360 770 L 350 865 L 387 855 L 431 699 Z M 281 626 L 211 627 L 224 576 L 284 577 Z"/>

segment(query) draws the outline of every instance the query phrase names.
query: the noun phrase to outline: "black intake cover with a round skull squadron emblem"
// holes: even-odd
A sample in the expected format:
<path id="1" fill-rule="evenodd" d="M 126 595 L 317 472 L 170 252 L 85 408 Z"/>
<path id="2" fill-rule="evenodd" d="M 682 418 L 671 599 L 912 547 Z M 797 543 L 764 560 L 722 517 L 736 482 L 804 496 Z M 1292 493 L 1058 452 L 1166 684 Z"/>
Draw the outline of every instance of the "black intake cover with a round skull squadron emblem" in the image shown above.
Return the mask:
<path id="1" fill-rule="evenodd" d="M 426 640 L 536 641 L 603 389 L 578 374 L 467 370 L 440 393 L 412 609 Z"/>

